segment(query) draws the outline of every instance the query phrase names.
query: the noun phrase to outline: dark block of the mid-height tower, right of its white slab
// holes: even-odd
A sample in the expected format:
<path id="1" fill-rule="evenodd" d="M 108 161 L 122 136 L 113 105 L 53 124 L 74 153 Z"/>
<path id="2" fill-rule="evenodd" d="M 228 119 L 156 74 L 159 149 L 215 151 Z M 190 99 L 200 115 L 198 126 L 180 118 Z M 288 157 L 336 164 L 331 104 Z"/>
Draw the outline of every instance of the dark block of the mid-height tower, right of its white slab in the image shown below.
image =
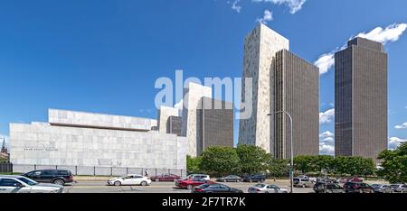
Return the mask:
<path id="1" fill-rule="evenodd" d="M 233 147 L 233 109 L 232 103 L 210 97 L 201 99 L 202 108 L 198 110 L 197 119 L 201 133 L 197 144 L 197 154 L 210 146 Z M 215 107 L 220 105 L 221 107 Z"/>

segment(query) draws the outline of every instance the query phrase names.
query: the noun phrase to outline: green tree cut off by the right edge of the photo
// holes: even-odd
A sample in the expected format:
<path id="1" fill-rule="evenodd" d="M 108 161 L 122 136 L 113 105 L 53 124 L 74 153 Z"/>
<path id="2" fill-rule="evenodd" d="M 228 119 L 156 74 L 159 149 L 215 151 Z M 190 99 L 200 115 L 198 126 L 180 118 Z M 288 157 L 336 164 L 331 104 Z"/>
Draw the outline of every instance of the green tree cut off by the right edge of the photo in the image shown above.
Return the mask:
<path id="1" fill-rule="evenodd" d="M 377 174 L 391 183 L 407 182 L 407 142 L 394 151 L 382 151 L 378 157 L 382 169 Z"/>

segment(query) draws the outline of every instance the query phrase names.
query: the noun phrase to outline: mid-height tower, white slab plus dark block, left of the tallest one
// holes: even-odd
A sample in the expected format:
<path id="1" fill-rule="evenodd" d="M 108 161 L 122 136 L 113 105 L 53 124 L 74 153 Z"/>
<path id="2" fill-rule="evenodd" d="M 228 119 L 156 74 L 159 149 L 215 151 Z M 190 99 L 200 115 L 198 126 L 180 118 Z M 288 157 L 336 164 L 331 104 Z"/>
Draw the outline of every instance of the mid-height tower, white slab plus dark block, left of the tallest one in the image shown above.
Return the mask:
<path id="1" fill-rule="evenodd" d="M 186 154 L 196 157 L 213 145 L 232 147 L 233 110 L 224 106 L 230 103 L 214 100 L 212 87 L 195 83 L 186 86 L 181 128 L 181 135 L 187 138 Z"/>

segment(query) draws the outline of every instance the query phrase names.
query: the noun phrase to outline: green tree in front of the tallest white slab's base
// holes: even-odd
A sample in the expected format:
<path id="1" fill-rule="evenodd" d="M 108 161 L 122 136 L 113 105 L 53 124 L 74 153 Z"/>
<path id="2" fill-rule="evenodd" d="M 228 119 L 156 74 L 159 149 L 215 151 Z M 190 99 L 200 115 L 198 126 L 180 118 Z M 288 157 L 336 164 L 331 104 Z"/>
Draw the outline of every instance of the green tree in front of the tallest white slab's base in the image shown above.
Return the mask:
<path id="1" fill-rule="evenodd" d="M 260 147 L 240 144 L 236 152 L 241 161 L 241 173 L 255 174 L 267 170 L 268 154 Z"/>

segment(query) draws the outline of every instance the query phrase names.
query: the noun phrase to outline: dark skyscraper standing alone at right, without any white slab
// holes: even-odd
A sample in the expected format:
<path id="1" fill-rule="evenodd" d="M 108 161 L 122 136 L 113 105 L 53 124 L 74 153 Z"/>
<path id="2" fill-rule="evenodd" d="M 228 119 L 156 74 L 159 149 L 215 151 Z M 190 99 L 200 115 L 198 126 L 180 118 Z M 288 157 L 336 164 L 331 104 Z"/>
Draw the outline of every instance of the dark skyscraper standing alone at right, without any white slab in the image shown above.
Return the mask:
<path id="1" fill-rule="evenodd" d="M 355 38 L 335 55 L 336 156 L 376 159 L 387 149 L 387 54 Z"/>

